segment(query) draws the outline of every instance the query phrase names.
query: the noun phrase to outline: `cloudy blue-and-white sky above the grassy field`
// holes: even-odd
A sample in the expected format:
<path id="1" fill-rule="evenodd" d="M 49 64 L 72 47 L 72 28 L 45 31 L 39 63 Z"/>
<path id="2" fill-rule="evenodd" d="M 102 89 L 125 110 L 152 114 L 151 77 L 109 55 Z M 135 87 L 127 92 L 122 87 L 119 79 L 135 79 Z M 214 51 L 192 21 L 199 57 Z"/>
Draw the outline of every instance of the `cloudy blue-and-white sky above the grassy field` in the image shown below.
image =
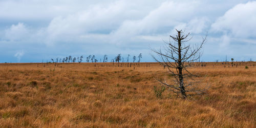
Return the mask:
<path id="1" fill-rule="evenodd" d="M 203 61 L 256 60 L 256 1 L 1 0 L 0 62 L 140 53 L 151 62 L 176 29 L 192 44 L 207 33 Z"/>

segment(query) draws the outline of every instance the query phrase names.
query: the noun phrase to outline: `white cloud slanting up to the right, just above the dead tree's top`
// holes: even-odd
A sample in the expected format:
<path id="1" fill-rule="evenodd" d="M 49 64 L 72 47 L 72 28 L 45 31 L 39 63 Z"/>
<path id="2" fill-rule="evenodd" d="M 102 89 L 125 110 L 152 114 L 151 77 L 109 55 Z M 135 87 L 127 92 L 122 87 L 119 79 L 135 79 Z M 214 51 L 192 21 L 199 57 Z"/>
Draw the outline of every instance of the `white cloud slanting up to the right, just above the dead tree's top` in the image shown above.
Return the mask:
<path id="1" fill-rule="evenodd" d="M 198 2 L 163 2 L 142 19 L 125 20 L 115 33 L 120 35 L 165 33 L 192 17 L 198 5 Z"/>

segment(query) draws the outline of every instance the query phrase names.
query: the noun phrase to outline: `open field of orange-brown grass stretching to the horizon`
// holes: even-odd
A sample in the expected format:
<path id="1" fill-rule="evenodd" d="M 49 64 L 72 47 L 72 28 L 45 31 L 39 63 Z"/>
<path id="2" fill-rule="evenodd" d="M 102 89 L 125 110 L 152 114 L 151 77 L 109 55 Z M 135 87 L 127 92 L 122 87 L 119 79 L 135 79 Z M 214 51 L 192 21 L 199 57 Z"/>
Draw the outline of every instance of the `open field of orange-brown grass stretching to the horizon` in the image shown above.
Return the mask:
<path id="1" fill-rule="evenodd" d="M 256 62 L 235 63 L 195 63 L 188 100 L 156 97 L 158 63 L 2 63 L 0 127 L 255 127 Z"/>

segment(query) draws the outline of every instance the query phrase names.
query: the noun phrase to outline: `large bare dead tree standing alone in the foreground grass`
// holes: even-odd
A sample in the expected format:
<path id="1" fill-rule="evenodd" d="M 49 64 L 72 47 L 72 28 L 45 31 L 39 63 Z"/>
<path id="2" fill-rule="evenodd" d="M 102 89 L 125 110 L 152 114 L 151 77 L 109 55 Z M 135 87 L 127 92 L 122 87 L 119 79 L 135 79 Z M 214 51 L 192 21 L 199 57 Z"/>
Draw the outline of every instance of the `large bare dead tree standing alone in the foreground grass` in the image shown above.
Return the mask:
<path id="1" fill-rule="evenodd" d="M 177 94 L 177 97 L 180 96 L 181 98 L 186 99 L 187 96 L 203 94 L 207 89 L 207 87 L 198 89 L 195 84 L 193 84 L 194 82 L 197 82 L 193 78 L 194 75 L 187 70 L 187 68 L 192 66 L 192 62 L 195 62 L 201 57 L 202 53 L 200 50 L 206 42 L 207 34 L 205 37 L 202 37 L 202 42 L 200 44 L 189 45 L 187 44 L 187 41 L 192 38 L 190 37 L 190 33 L 185 34 L 182 30 L 176 31 L 178 35 L 170 35 L 169 42 L 164 41 L 165 46 L 163 51 L 161 49 L 152 49 L 158 56 L 156 57 L 152 54 L 152 57 L 166 67 L 171 76 L 174 76 L 174 82 L 172 84 L 167 83 L 166 80 L 163 81 L 156 78 L 157 81 L 163 86 L 169 87 L 170 90 Z"/>

